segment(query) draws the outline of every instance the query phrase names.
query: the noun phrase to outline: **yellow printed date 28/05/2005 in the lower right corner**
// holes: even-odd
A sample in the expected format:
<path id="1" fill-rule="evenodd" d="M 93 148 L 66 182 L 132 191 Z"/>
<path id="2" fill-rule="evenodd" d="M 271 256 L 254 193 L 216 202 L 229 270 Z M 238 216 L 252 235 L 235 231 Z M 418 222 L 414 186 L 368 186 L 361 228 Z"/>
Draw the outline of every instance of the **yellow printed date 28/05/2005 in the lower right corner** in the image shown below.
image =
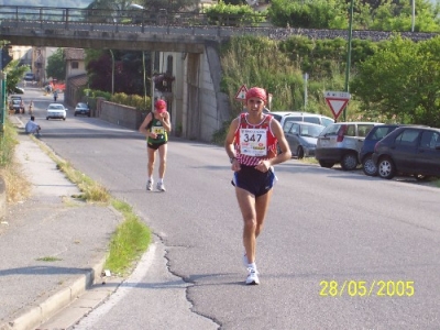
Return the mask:
<path id="1" fill-rule="evenodd" d="M 415 294 L 414 280 L 321 280 L 321 297 L 411 297 Z"/>

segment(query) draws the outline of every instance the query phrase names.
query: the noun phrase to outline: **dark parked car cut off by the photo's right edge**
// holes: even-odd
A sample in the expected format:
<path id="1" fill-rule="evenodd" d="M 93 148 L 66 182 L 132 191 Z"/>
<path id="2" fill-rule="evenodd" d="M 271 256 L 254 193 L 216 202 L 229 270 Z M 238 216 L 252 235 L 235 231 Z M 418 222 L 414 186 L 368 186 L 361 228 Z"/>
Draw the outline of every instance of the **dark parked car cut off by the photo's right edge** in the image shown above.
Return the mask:
<path id="1" fill-rule="evenodd" d="M 400 127 L 376 143 L 373 162 L 382 178 L 440 176 L 440 129 Z"/>

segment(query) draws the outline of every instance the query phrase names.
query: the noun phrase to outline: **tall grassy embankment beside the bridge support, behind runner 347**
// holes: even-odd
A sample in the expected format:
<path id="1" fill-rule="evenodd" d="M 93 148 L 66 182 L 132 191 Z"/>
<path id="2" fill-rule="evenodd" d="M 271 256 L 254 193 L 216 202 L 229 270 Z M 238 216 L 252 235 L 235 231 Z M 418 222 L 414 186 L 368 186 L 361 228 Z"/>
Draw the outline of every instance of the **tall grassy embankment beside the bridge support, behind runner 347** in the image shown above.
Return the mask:
<path id="1" fill-rule="evenodd" d="M 299 41 L 297 42 L 299 45 Z M 294 43 L 293 41 L 292 44 Z M 294 56 L 295 59 L 292 59 L 290 54 L 285 52 L 287 48 L 284 43 L 253 36 L 233 37 L 223 46 L 221 51 L 223 75 L 220 88 L 229 96 L 233 109 L 232 117 L 243 107 L 234 99 L 242 85 L 248 88 L 260 86 L 272 94 L 272 110 L 304 109 L 302 58 Z M 305 40 L 305 44 L 298 48 L 312 52 L 314 46 Z M 307 111 L 331 116 L 322 95 L 326 86 L 343 87 L 343 75 L 340 72 L 342 70 L 336 63 L 329 62 L 329 68 L 322 77 L 310 75 Z"/>

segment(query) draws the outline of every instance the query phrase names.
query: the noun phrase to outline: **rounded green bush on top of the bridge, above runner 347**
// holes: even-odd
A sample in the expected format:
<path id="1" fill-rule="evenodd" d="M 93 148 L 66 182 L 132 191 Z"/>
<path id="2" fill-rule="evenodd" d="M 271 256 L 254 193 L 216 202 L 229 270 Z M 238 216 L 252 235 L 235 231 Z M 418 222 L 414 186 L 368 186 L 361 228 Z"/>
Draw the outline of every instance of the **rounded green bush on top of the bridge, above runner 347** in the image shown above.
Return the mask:
<path id="1" fill-rule="evenodd" d="M 205 9 L 210 25 L 244 26 L 257 25 L 266 20 L 265 12 L 255 12 L 246 4 L 218 4 Z"/>

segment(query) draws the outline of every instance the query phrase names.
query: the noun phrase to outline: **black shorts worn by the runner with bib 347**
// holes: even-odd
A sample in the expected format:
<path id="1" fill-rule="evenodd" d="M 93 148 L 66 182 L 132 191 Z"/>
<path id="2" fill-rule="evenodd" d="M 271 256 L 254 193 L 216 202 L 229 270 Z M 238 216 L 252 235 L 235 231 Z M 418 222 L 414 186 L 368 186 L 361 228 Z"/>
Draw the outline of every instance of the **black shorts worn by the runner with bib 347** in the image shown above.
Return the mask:
<path id="1" fill-rule="evenodd" d="M 241 169 L 233 175 L 231 182 L 233 186 L 248 190 L 255 197 L 263 196 L 273 188 L 276 179 L 273 167 L 263 173 L 255 169 L 255 166 L 240 166 Z"/>

